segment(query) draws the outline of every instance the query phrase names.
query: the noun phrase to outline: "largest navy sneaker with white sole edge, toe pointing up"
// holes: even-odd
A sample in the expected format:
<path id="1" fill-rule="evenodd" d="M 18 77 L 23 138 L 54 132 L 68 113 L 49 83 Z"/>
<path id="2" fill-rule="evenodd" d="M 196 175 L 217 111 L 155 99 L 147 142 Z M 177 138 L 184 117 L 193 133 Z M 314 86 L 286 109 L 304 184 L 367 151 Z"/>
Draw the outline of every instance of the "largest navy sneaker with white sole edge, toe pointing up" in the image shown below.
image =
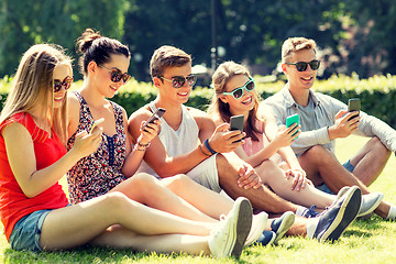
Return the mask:
<path id="1" fill-rule="evenodd" d="M 350 187 L 340 199 L 318 217 L 314 238 L 336 241 L 356 218 L 362 202 L 362 191 L 358 186 Z"/>

